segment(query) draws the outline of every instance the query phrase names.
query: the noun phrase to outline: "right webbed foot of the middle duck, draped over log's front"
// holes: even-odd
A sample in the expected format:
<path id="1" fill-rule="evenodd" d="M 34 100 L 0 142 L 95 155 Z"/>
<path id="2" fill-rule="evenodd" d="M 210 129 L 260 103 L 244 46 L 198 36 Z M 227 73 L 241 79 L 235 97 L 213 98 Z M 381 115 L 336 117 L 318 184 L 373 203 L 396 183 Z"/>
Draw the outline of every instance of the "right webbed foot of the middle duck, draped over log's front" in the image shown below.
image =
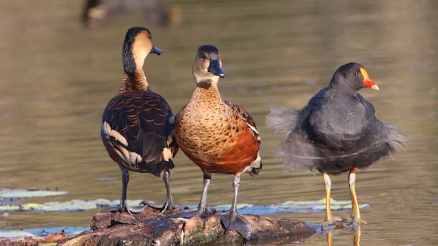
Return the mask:
<path id="1" fill-rule="evenodd" d="M 242 215 L 237 215 L 236 212 L 219 213 L 220 220 L 226 231 L 235 230 L 243 238 L 248 240 L 253 233 L 253 226 Z"/>

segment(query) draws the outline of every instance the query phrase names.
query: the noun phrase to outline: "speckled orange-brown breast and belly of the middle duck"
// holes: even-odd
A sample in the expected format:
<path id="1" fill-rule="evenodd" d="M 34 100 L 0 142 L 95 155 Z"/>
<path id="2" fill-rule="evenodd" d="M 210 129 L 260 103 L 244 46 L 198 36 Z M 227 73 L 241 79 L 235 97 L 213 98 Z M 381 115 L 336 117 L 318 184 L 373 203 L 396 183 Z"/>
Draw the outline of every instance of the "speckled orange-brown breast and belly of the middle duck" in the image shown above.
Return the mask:
<path id="1" fill-rule="evenodd" d="M 181 150 L 204 172 L 237 174 L 256 158 L 260 143 L 238 113 L 222 101 L 186 106 L 175 118 Z"/>

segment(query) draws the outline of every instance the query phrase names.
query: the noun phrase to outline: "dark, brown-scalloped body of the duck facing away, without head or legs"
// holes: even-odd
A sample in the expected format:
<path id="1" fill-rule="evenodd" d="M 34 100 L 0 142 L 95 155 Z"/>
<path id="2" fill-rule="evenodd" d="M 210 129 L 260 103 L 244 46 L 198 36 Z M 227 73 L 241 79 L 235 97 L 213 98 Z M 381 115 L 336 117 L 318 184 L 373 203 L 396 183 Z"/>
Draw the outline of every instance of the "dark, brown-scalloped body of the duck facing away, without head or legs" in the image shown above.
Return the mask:
<path id="1" fill-rule="evenodd" d="M 108 103 L 103 113 L 102 124 L 107 125 L 102 128 L 102 135 L 112 146 L 117 146 L 117 154 L 134 171 L 139 168 L 161 172 L 155 167 L 152 170 L 150 165 L 168 163 L 168 168 L 173 167 L 171 158 L 178 148 L 173 133 L 174 118 L 168 103 L 159 94 L 128 92 Z"/>

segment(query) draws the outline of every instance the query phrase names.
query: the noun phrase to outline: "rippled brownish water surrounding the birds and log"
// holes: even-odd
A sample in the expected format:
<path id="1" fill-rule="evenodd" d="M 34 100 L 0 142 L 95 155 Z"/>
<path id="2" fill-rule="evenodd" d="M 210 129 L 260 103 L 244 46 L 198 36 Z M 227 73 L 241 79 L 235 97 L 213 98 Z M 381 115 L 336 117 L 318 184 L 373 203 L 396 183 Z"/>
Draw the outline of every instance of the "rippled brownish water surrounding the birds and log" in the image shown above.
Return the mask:
<path id="1" fill-rule="evenodd" d="M 264 125 L 270 107 L 302 107 L 349 61 L 367 68 L 380 92 L 361 90 L 378 118 L 411 135 L 396 162 L 357 174 L 368 222 L 361 245 L 438 245 L 438 39 L 435 1 L 165 1 L 180 22 L 151 27 L 163 55 L 146 59 L 146 77 L 175 113 L 194 90 L 191 64 L 201 44 L 218 46 L 228 76 L 222 97 L 247 109 L 262 137 L 263 170 L 244 176 L 239 202 L 269 205 L 324 197 L 320 174 L 285 173 L 272 152 L 283 135 Z M 56 197 L 119 199 L 120 171 L 101 143 L 99 124 L 118 90 L 126 30 L 142 14 L 112 18 L 94 29 L 79 23 L 79 1 L 0 3 L 0 188 L 70 191 Z M 198 204 L 201 171 L 182 152 L 172 187 L 179 204 Z M 117 178 L 101 182 L 99 178 Z M 209 204 L 230 204 L 231 176 L 216 175 Z M 333 176 L 332 196 L 348 200 L 347 176 Z M 161 179 L 131 174 L 129 199 L 165 199 Z M 48 202 L 48 198 L 29 202 Z M 88 226 L 97 210 L 10 213 L 0 228 Z M 349 217 L 351 211 L 334 211 Z M 324 213 L 271 215 L 320 223 Z M 348 230 L 333 245 L 352 245 Z M 326 244 L 326 235 L 305 239 Z"/>

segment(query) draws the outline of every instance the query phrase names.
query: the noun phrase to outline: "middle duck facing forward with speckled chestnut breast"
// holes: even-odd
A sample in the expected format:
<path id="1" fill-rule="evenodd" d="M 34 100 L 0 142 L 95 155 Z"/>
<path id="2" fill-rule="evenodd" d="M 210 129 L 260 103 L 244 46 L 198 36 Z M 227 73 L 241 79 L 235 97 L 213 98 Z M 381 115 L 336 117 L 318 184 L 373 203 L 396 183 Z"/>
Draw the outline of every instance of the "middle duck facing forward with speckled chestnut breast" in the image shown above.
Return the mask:
<path id="1" fill-rule="evenodd" d="M 216 210 L 207 206 L 211 174 L 233 174 L 231 208 L 218 215 L 227 231 L 235 230 L 248 239 L 252 226 L 244 217 L 237 215 L 237 193 L 241 174 L 255 176 L 262 168 L 260 134 L 245 109 L 222 100 L 218 81 L 227 72 L 222 68 L 216 46 L 198 48 L 192 74 L 196 88 L 187 105 L 175 116 L 175 139 L 185 155 L 201 168 L 203 193 L 197 208 L 179 211 L 173 217 L 214 215 Z"/>

